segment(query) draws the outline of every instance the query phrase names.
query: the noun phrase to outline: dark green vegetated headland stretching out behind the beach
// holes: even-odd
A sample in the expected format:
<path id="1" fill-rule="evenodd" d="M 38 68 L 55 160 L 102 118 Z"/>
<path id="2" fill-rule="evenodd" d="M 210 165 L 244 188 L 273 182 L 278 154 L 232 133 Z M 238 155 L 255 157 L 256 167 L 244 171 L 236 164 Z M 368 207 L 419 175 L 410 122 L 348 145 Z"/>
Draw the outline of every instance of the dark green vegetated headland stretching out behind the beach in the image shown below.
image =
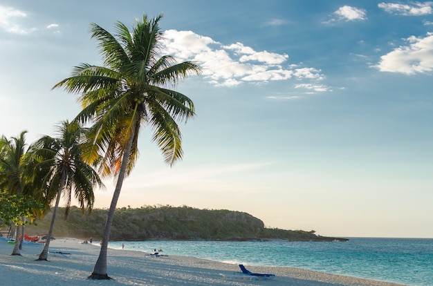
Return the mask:
<path id="1" fill-rule="evenodd" d="M 107 209 L 93 209 L 82 215 L 72 207 L 66 220 L 57 220 L 53 235 L 99 240 L 104 232 Z M 42 235 L 49 228 L 52 213 L 27 227 L 30 235 Z M 266 228 L 248 213 L 192 207 L 145 206 L 116 209 L 111 240 L 344 240 L 317 236 L 315 231 Z"/>

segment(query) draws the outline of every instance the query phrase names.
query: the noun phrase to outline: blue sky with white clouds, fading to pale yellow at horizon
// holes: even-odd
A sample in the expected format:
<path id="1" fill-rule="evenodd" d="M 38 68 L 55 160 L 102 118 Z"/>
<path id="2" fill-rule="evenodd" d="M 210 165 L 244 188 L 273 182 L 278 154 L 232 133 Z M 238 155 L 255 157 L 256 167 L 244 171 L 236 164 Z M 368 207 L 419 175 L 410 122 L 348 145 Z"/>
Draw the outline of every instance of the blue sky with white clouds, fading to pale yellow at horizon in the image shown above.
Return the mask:
<path id="1" fill-rule="evenodd" d="M 0 0 L 0 134 L 55 136 L 80 111 L 51 88 L 100 65 L 89 27 L 164 14 L 166 55 L 201 75 L 176 90 L 184 156 L 140 133 L 118 207 L 244 211 L 322 236 L 433 238 L 433 2 Z M 114 183 L 95 190 L 108 208 Z"/>

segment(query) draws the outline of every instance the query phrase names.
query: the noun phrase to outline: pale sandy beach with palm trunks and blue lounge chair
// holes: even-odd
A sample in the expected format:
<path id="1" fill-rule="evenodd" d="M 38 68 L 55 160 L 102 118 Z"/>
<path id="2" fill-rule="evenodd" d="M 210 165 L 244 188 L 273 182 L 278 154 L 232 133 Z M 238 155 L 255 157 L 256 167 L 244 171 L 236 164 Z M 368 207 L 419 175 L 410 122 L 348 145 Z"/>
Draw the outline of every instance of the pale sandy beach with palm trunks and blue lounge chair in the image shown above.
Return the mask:
<path id="1" fill-rule="evenodd" d="M 49 261 L 35 261 L 42 245 L 24 245 L 22 256 L 10 256 L 12 248 L 13 245 L 0 242 L 0 285 L 397 285 L 288 267 L 248 266 L 250 271 L 275 274 L 273 280 L 225 280 L 221 274 L 237 274 L 237 265 L 186 256 L 156 258 L 140 251 L 118 249 L 109 249 L 107 270 L 113 280 L 89 280 L 86 278 L 99 255 L 98 243 L 83 245 L 74 238 L 52 240 Z M 60 256 L 56 251 L 71 256 Z"/>

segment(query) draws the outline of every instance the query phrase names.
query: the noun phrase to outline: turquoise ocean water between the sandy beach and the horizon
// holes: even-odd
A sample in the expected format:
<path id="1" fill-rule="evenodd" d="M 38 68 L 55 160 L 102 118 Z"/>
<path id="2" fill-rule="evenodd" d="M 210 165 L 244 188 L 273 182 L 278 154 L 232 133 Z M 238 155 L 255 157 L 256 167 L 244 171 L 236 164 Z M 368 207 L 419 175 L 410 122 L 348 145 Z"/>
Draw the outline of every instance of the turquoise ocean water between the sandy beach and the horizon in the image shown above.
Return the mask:
<path id="1" fill-rule="evenodd" d="M 433 285 L 433 239 L 349 238 L 347 242 L 117 241 L 109 247 L 193 256 L 225 263 L 298 267 L 358 278 Z"/>

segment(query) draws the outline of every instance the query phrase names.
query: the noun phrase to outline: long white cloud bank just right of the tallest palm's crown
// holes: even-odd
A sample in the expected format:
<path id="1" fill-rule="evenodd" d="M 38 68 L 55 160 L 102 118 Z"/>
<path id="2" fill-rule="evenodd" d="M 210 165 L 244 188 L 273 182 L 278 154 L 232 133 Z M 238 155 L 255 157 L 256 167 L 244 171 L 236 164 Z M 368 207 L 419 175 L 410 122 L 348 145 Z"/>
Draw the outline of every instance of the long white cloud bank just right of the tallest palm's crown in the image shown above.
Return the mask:
<path id="1" fill-rule="evenodd" d="M 164 37 L 164 53 L 174 55 L 179 61 L 198 61 L 204 78 L 215 86 L 324 79 L 320 70 L 289 65 L 286 54 L 257 51 L 239 42 L 223 45 L 192 31 L 167 30 Z"/>

